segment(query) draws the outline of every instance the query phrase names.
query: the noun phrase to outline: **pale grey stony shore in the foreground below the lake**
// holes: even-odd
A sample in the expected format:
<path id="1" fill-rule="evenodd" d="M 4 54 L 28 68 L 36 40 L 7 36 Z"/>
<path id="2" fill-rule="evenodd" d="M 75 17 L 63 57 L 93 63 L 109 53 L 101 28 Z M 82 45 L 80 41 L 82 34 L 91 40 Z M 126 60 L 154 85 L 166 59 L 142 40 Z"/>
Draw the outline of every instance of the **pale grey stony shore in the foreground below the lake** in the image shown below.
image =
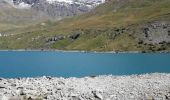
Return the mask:
<path id="1" fill-rule="evenodd" d="M 170 74 L 0 78 L 0 100 L 170 100 Z"/>

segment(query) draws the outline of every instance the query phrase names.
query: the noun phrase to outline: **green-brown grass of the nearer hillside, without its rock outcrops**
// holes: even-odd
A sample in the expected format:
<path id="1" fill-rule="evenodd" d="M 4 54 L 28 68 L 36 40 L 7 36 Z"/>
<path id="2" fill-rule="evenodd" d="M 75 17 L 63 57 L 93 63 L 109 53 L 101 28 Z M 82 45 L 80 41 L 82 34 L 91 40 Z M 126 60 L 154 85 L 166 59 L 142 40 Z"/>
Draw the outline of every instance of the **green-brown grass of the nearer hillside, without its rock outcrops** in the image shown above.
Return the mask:
<path id="1" fill-rule="evenodd" d="M 81 32 L 75 41 L 64 39 L 50 47 L 66 50 L 97 50 L 97 51 L 134 51 L 147 50 L 138 47 L 138 41 L 128 35 L 121 34 L 110 39 L 110 30 L 121 27 L 133 27 L 154 20 L 170 20 L 169 0 L 112 0 L 98 6 L 95 10 L 61 20 L 57 23 L 46 22 L 46 26 L 36 25 L 24 30 L 16 36 L 0 38 L 1 49 L 43 48 L 46 37 L 63 34 L 65 36 Z M 30 30 L 31 29 L 31 30 Z M 37 39 L 32 39 L 37 38 Z"/>

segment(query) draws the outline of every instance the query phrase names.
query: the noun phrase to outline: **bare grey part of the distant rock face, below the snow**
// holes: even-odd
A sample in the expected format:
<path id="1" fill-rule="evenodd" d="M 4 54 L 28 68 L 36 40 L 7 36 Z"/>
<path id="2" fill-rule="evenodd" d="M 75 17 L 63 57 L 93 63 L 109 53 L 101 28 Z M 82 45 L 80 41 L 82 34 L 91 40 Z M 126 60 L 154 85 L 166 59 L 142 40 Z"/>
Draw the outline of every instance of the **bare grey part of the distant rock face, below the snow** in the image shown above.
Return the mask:
<path id="1" fill-rule="evenodd" d="M 88 12 L 90 8 L 81 4 L 67 4 L 67 3 L 48 3 L 44 0 L 40 0 L 39 3 L 35 3 L 32 6 L 37 11 L 42 11 L 51 17 L 68 17 L 78 15 L 83 12 Z"/>

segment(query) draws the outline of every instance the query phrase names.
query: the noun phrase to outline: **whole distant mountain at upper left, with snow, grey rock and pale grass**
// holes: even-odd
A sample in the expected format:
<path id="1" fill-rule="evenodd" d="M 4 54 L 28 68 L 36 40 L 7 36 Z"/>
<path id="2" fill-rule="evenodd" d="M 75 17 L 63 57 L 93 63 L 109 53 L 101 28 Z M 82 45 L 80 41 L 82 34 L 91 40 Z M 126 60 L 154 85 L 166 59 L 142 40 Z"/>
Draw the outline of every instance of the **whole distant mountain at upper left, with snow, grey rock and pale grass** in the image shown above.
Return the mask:
<path id="1" fill-rule="evenodd" d="M 102 3 L 100 0 L 70 1 L 72 2 L 68 0 L 1 0 L 0 32 L 11 33 L 43 21 L 57 21 L 75 16 L 88 12 Z"/>

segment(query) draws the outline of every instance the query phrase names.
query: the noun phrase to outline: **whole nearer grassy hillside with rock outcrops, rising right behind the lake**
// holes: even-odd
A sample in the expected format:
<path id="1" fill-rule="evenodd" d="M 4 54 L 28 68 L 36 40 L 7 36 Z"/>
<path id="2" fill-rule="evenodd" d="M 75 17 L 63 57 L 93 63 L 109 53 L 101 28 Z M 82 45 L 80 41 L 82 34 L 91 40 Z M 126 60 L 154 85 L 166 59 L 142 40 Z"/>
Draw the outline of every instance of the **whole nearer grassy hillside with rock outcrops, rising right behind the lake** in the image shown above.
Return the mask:
<path id="1" fill-rule="evenodd" d="M 169 0 L 110 0 L 89 13 L 1 37 L 2 49 L 170 50 Z"/>

